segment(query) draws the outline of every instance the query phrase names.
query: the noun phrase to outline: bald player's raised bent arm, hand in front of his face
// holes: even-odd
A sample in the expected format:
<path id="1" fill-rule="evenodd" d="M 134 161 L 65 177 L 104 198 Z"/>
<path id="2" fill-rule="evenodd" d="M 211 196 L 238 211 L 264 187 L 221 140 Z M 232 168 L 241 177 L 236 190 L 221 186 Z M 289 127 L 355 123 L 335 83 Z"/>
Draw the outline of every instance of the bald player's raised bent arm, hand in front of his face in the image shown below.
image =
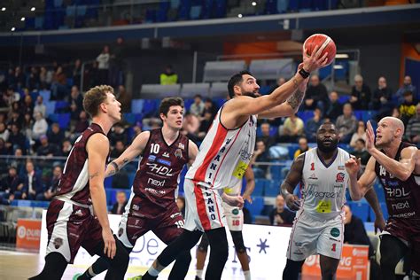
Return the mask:
<path id="1" fill-rule="evenodd" d="M 385 168 L 390 174 L 394 175 L 401 181 L 406 181 L 413 173 L 418 158 L 418 149 L 416 147 L 407 147 L 401 151 L 400 161 L 391 159 L 385 153 L 380 152 L 375 147 L 375 134 L 372 125 L 368 121 L 366 129 L 366 150 L 377 162 Z"/>

